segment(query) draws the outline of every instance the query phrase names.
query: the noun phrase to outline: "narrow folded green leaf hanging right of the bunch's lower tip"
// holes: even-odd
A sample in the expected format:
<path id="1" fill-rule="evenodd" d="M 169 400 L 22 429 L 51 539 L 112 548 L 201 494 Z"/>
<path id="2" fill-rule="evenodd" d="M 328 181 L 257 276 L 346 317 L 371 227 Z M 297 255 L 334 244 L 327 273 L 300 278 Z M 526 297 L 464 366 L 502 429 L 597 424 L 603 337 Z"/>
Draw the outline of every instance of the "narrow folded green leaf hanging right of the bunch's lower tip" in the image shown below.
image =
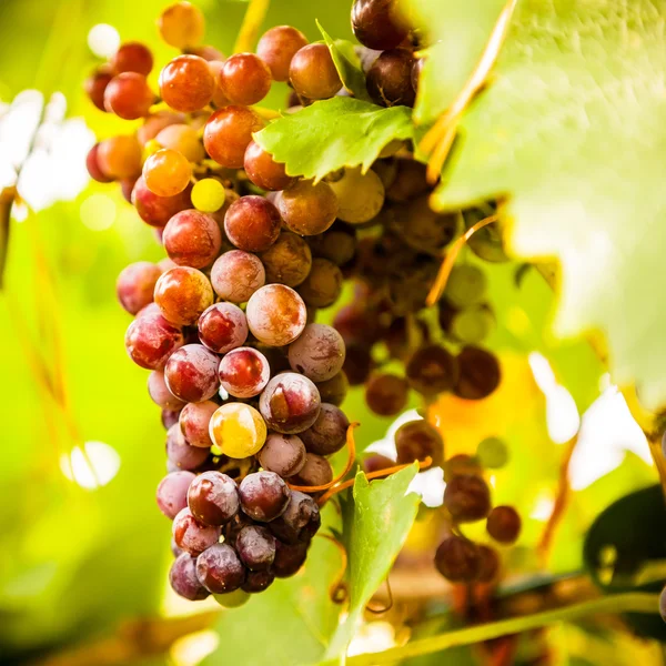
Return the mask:
<path id="1" fill-rule="evenodd" d="M 329 658 L 344 654 L 367 602 L 387 576 L 416 517 L 421 497 L 407 494 L 416 464 L 370 483 L 363 472 L 354 482 L 352 519 L 345 521 L 349 544 L 349 615 L 331 640 Z M 347 512 L 345 512 L 347 513 Z"/>

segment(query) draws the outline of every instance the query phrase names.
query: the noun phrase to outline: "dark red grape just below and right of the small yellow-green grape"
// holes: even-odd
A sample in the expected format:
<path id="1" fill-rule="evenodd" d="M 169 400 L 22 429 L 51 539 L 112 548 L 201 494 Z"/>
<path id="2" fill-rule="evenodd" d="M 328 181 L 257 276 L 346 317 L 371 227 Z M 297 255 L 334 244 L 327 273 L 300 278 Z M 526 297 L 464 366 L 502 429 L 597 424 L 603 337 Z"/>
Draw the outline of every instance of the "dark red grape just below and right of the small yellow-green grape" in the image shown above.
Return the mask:
<path id="1" fill-rule="evenodd" d="M 240 250 L 263 252 L 280 235 L 282 220 L 278 209 L 263 196 L 254 194 L 234 201 L 224 215 L 224 231 Z"/>

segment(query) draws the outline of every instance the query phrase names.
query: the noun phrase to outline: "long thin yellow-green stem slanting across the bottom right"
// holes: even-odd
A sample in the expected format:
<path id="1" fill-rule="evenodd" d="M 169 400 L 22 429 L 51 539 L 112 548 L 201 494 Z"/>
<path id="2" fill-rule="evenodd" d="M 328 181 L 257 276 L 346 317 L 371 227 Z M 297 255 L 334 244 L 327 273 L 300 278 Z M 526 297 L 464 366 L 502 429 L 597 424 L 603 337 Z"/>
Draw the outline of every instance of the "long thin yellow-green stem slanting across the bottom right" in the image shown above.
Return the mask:
<path id="1" fill-rule="evenodd" d="M 467 627 L 455 632 L 446 632 L 432 638 L 423 638 L 407 643 L 401 647 L 393 647 L 382 653 L 369 653 L 349 657 L 346 666 L 379 666 L 380 664 L 395 664 L 407 657 L 428 655 L 457 647 L 461 645 L 473 645 L 500 638 L 511 634 L 519 634 L 529 629 L 538 629 L 558 622 L 566 622 L 594 615 L 597 613 L 657 613 L 659 607 L 659 596 L 656 594 L 645 594 L 630 592 L 627 594 L 616 594 L 605 596 L 592 602 L 574 604 L 555 610 L 535 613 L 524 617 L 513 617 L 500 622 L 482 624 L 474 627 Z M 340 662 L 331 659 L 323 662 L 321 666 L 336 666 Z"/>

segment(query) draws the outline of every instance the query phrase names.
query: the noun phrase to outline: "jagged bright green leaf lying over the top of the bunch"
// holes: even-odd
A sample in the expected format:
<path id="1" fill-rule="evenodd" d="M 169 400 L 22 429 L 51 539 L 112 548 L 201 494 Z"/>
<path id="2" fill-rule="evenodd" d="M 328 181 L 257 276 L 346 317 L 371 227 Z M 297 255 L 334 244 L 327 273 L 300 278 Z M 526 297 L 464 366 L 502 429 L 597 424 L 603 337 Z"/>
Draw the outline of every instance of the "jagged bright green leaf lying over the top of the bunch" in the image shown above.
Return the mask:
<path id="1" fill-rule="evenodd" d="M 387 143 L 411 139 L 413 131 L 406 107 L 335 97 L 273 121 L 254 139 L 290 175 L 321 180 L 342 167 L 367 171 Z"/>

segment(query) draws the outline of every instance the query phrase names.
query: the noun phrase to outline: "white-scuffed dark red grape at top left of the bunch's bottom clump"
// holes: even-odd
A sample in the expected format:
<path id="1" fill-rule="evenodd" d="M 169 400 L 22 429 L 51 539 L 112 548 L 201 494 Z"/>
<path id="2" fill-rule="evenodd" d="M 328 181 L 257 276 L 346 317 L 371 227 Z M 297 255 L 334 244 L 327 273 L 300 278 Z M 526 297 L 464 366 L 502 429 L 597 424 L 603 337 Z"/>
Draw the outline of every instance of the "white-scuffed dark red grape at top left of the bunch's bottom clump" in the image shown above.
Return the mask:
<path id="1" fill-rule="evenodd" d="M 220 472 L 204 472 L 190 485 L 188 506 L 203 525 L 219 526 L 239 513 L 239 491 L 235 481 Z"/>

